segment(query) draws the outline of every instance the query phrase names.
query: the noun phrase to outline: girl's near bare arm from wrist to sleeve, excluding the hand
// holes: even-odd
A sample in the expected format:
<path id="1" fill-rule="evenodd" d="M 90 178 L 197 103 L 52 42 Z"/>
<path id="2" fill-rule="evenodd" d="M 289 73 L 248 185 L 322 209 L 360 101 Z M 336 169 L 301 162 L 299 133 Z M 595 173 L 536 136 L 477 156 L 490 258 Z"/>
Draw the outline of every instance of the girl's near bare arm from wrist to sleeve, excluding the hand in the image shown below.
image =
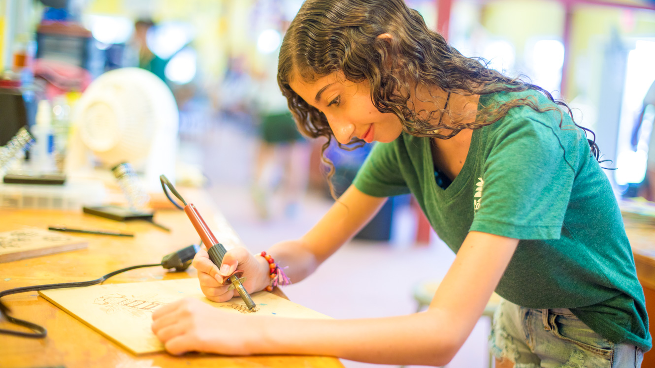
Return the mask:
<path id="1" fill-rule="evenodd" d="M 272 319 L 257 353 L 338 356 L 386 364 L 450 361 L 470 335 L 518 240 L 470 232 L 427 312 L 364 320 Z"/>

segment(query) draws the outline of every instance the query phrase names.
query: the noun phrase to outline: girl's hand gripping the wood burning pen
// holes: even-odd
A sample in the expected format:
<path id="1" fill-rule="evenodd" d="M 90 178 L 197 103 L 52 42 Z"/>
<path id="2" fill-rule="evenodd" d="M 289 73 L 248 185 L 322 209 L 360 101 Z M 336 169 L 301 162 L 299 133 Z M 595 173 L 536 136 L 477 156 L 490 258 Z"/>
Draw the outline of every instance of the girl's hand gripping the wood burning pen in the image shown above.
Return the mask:
<path id="1" fill-rule="evenodd" d="M 260 291 L 268 285 L 269 267 L 267 261 L 263 257 L 255 257 L 250 254 L 248 249 L 243 247 L 227 251 L 220 268 L 214 265 L 207 251 L 200 248 L 193 257 L 193 267 L 198 270 L 200 289 L 210 301 L 225 302 L 234 296 L 238 296 L 236 290 L 228 290 L 229 285 L 225 284 L 227 281 L 225 276 L 231 275 L 234 270 L 244 271 L 242 277 L 247 279 L 243 285 L 248 293 Z"/>

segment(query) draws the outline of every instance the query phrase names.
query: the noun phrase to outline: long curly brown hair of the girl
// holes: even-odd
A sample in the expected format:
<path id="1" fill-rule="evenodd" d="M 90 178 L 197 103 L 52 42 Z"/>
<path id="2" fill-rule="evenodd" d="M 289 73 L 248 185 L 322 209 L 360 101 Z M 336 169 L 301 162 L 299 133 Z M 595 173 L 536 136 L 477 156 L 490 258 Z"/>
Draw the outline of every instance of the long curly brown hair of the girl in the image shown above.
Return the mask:
<path id="1" fill-rule="evenodd" d="M 378 37 L 390 34 L 390 39 Z M 429 29 L 421 14 L 409 9 L 403 0 L 307 0 L 291 22 L 278 62 L 278 84 L 287 98 L 289 109 L 299 130 L 310 138 L 325 137 L 323 153 L 333 137 L 327 119 L 318 109 L 304 101 L 290 87 L 291 78 L 315 81 L 342 71 L 348 81 L 368 81 L 371 101 L 381 113 L 394 113 L 403 130 L 413 136 L 449 139 L 462 129 L 478 129 L 502 119 L 510 109 L 528 106 L 534 111 L 559 111 L 572 117 L 564 101 L 554 100 L 550 92 L 520 78 L 510 78 L 489 69 L 480 58 L 467 58 L 450 46 L 443 36 Z M 474 122 L 462 122 L 451 111 L 437 105 L 433 111 L 415 111 L 408 105 L 411 91 L 418 86 L 437 86 L 445 92 L 472 96 L 495 92 L 536 90 L 556 105 L 540 107 L 532 98 L 517 98 L 502 104 L 483 107 Z M 434 96 L 433 96 L 434 97 Z M 411 103 L 410 103 L 411 105 Z M 440 107 L 440 106 L 443 106 Z M 436 115 L 448 115 L 450 124 L 434 123 Z M 591 132 L 587 128 L 578 128 Z M 446 130 L 447 134 L 443 134 Z M 593 134 L 593 132 L 591 132 Z M 591 154 L 599 159 L 594 139 L 588 139 Z M 354 139 L 343 149 L 363 144 Z M 334 166 L 329 166 L 330 182 Z"/>

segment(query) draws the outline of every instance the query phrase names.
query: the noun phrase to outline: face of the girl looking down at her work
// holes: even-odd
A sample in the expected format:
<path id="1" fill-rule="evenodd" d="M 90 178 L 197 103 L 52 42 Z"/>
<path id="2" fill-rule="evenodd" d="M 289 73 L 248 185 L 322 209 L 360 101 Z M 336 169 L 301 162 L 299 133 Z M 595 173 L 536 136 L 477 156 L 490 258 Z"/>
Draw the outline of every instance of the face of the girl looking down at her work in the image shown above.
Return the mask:
<path id="1" fill-rule="evenodd" d="M 338 71 L 312 82 L 296 74 L 290 86 L 305 102 L 324 113 L 339 143 L 346 144 L 353 138 L 368 143 L 390 142 L 402 133 L 396 115 L 381 113 L 373 106 L 367 81 L 346 81 L 343 72 Z"/>

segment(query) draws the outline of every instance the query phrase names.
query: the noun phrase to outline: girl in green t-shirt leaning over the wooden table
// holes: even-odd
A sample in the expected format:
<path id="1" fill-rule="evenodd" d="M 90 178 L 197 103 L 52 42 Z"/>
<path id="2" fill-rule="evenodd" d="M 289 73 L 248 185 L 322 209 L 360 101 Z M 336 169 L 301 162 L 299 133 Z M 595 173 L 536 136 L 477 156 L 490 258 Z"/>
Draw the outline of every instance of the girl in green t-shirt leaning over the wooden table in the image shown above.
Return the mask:
<path id="1" fill-rule="evenodd" d="M 286 320 L 169 304 L 153 315 L 169 352 L 444 365 L 496 291 L 498 367 L 641 365 L 651 346 L 643 290 L 597 147 L 565 103 L 462 56 L 402 0 L 305 1 L 278 82 L 305 135 L 380 142 L 314 228 L 267 251 L 293 282 L 402 193 L 457 257 L 430 308 L 409 316 Z M 201 251 L 194 265 L 212 301 L 233 297 L 223 279 L 237 265 L 249 291 L 269 285 L 267 260 L 245 249 L 220 268 Z"/>

